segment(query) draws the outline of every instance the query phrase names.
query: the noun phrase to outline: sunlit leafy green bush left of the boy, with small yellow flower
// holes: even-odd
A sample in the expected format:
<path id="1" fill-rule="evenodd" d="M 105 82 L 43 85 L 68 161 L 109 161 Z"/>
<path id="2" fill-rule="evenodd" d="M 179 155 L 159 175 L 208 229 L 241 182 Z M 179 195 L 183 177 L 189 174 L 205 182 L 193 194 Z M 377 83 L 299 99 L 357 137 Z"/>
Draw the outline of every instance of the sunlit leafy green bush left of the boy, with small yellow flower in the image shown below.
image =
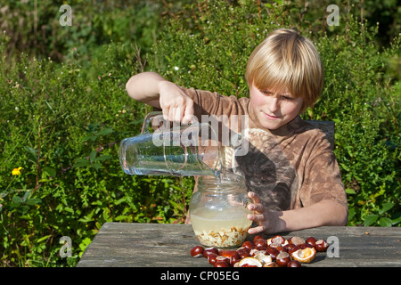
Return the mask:
<path id="1" fill-rule="evenodd" d="M 105 222 L 183 222 L 191 180 L 128 176 L 119 166 L 119 142 L 139 133 L 146 112 L 125 91 L 141 66 L 135 54 L 104 45 L 90 69 L 24 54 L 8 67 L 1 58 L 3 265 L 76 265 Z M 62 236 L 71 257 L 59 254 Z"/>

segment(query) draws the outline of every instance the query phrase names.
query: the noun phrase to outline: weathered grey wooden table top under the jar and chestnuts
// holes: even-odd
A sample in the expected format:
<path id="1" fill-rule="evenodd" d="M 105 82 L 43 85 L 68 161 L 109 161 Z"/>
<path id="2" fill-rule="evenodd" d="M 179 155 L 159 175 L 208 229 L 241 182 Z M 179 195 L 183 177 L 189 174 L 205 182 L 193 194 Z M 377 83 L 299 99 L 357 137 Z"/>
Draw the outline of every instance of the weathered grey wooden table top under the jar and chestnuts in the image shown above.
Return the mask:
<path id="1" fill-rule="evenodd" d="M 290 238 L 314 236 L 338 241 L 338 256 L 318 253 L 305 267 L 401 266 L 401 227 L 325 226 L 282 232 Z M 267 237 L 267 236 L 266 236 Z M 252 239 L 252 236 L 250 236 Z M 333 243 L 331 243 L 334 245 Z M 203 257 L 193 258 L 199 245 L 188 224 L 106 223 L 78 263 L 78 267 L 209 267 Z M 336 252 L 331 250 L 334 255 Z"/>

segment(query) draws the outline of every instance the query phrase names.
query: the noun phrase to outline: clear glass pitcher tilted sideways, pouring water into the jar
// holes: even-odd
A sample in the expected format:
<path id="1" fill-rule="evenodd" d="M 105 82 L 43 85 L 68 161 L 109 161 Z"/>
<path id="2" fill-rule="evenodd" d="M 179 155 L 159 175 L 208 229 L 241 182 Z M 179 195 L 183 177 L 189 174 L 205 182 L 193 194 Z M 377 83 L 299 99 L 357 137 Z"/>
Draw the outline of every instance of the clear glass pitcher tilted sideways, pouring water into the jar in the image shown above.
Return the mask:
<path id="1" fill-rule="evenodd" d="M 182 126 L 151 112 L 141 134 L 124 139 L 119 161 L 128 175 L 219 175 L 222 169 L 217 133 L 208 123 Z"/>

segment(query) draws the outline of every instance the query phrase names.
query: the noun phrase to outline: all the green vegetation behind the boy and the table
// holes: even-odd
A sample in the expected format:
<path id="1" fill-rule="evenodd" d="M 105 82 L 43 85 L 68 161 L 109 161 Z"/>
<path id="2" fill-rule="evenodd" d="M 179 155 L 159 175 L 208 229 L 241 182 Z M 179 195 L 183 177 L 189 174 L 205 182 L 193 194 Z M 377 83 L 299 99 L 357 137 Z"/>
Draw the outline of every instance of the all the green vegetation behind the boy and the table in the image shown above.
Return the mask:
<path id="1" fill-rule="evenodd" d="M 71 3 L 72 26 L 62 27 L 61 4 L 0 0 L 3 266 L 74 266 L 109 221 L 183 223 L 191 178 L 119 166 L 119 142 L 150 110 L 128 99 L 127 79 L 155 70 L 247 96 L 247 58 L 281 27 L 298 28 L 323 58 L 323 97 L 303 116 L 336 122 L 348 224 L 401 224 L 396 0 L 88 2 Z M 329 4 L 339 26 L 326 23 Z M 71 257 L 60 256 L 62 236 Z"/>

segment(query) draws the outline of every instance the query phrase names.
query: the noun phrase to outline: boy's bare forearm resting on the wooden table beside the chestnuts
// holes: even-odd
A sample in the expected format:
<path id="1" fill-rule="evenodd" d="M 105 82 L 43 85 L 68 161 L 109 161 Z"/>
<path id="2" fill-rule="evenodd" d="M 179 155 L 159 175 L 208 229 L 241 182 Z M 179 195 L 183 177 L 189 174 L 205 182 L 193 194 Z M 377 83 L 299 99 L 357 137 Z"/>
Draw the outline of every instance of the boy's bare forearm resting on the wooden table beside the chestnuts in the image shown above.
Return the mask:
<path id="1" fill-rule="evenodd" d="M 347 208 L 333 200 L 322 200 L 305 208 L 272 214 L 275 217 L 274 232 L 297 231 L 323 225 L 346 225 L 348 222 Z"/>

